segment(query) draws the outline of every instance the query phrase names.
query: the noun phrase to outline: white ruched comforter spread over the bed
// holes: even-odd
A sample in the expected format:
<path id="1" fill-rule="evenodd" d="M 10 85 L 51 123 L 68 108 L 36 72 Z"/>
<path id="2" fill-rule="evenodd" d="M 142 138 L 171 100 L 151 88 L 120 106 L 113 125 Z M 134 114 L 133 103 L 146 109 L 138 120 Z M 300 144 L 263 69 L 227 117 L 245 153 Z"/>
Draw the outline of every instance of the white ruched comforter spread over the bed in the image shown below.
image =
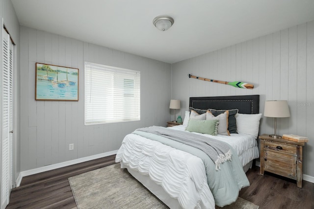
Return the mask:
<path id="1" fill-rule="evenodd" d="M 184 130 L 185 127 L 171 128 Z M 259 157 L 254 137 L 233 134 L 232 137 L 218 135 L 214 138 L 231 144 L 239 155 L 242 165 Z M 123 162 L 132 170 L 149 176 L 172 198 L 178 199 L 184 209 L 215 208 L 204 163 L 194 155 L 158 141 L 129 134 L 117 152 L 116 162 Z"/>

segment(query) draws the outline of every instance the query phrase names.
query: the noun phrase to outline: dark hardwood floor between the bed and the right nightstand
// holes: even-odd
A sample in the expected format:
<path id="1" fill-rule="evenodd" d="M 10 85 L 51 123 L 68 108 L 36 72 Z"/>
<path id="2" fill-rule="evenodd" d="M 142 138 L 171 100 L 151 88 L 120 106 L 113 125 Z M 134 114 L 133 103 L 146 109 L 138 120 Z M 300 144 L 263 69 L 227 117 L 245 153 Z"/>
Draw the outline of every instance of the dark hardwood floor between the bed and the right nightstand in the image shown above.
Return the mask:
<path id="1" fill-rule="evenodd" d="M 254 166 L 246 172 L 250 186 L 242 188 L 239 197 L 248 200 L 260 209 L 314 209 L 314 184 L 302 181 L 302 188 L 296 181 L 265 172 Z"/>

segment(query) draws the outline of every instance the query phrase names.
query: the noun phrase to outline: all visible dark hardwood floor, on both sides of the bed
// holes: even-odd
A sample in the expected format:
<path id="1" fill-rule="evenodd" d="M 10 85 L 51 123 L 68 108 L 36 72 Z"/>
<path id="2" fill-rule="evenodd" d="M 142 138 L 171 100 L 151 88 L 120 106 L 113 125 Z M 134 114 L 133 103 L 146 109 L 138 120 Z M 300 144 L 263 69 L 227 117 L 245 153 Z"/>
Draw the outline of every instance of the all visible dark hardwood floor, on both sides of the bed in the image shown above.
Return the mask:
<path id="1" fill-rule="evenodd" d="M 21 186 L 11 192 L 7 209 L 75 209 L 76 203 L 68 178 L 114 164 L 115 155 L 24 177 Z M 314 184 L 295 181 L 265 172 L 253 166 L 246 173 L 250 186 L 239 196 L 260 209 L 314 209 Z"/>

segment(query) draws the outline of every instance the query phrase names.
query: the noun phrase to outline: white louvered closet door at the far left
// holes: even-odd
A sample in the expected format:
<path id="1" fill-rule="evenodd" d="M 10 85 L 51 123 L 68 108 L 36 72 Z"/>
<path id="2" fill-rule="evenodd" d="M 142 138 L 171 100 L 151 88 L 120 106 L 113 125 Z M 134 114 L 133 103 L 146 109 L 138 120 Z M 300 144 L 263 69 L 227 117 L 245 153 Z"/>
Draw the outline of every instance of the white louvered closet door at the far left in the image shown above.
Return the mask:
<path id="1" fill-rule="evenodd" d="M 2 162 L 1 209 L 9 203 L 12 189 L 12 141 L 13 141 L 13 44 L 2 28 Z"/>

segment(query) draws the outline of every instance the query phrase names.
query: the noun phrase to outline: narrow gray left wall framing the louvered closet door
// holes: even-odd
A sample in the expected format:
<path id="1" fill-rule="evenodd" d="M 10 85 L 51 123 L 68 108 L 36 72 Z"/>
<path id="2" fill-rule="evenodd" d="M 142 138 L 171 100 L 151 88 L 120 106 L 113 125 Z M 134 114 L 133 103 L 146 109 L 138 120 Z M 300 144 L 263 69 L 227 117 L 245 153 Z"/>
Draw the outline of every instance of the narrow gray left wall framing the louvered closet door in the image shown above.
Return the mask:
<path id="1" fill-rule="evenodd" d="M 20 83 L 20 78 L 19 78 L 19 70 L 20 70 L 20 24 L 18 22 L 17 16 L 15 14 L 13 4 L 11 0 L 0 0 L 0 22 L 3 19 L 3 24 L 8 30 L 11 38 L 13 39 L 15 43 L 15 54 L 16 54 L 16 68 L 15 71 L 13 72 L 14 76 L 14 81 L 13 83 L 13 88 L 14 88 L 14 111 L 13 111 L 13 116 L 14 116 L 14 133 L 13 133 L 13 182 L 17 178 L 20 172 L 20 132 L 19 130 L 19 120 L 17 119 L 17 116 L 19 115 L 19 107 L 20 107 L 20 101 L 19 101 L 19 83 Z M 1 23 L 2 24 L 2 23 Z M 2 41 L 2 25 L 1 25 L 1 32 L 0 32 L 0 40 Z M 2 43 L 1 43 L 2 46 Z M 0 47 L 2 48 L 2 47 Z M 2 67 L 2 49 L 0 50 L 0 66 Z M 0 73 L 0 77 L 2 76 L 2 73 Z M 2 93 L 2 77 L 0 79 L 0 92 Z M 2 94 L 1 94 L 2 95 Z M 0 105 L 2 105 L 2 97 L 0 97 Z M 2 106 L 1 106 L 2 109 Z M 2 118 L 2 112 L 0 111 L 1 118 Z M 0 122 L 1 127 L 2 127 L 2 120 Z M 2 136 L 2 129 L 0 129 L 0 136 Z M 0 149 L 0 178 L 1 178 L 1 153 Z M 15 163 L 17 162 L 17 163 Z M 1 191 L 0 191 L 1 192 Z"/>

